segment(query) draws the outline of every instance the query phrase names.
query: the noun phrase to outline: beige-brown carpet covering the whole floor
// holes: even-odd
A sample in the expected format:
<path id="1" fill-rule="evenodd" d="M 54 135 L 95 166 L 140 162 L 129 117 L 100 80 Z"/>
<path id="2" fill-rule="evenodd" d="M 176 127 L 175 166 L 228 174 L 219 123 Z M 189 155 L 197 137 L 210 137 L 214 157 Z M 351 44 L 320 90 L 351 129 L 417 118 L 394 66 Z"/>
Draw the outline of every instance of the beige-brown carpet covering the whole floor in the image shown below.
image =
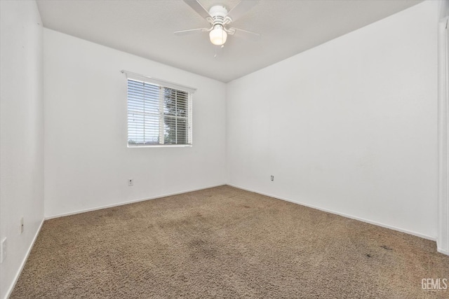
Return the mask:
<path id="1" fill-rule="evenodd" d="M 229 186 L 43 224 L 11 298 L 449 298 L 435 242 Z"/>

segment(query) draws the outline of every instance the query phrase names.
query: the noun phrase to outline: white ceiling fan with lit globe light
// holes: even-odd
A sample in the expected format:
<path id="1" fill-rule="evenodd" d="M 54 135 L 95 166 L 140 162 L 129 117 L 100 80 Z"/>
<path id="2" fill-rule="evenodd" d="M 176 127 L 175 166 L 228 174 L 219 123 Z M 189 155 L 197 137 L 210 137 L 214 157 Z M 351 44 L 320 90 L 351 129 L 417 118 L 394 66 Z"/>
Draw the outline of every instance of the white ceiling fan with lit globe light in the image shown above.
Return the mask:
<path id="1" fill-rule="evenodd" d="M 209 32 L 210 42 L 216 46 L 222 46 L 226 43 L 227 35 L 239 32 L 253 38 L 260 37 L 260 34 L 249 32 L 247 30 L 234 27 L 227 28 L 235 20 L 239 19 L 247 11 L 259 2 L 259 0 L 241 0 L 231 11 L 228 12 L 225 6 L 212 6 L 209 11 L 197 0 L 184 0 L 184 2 L 199 13 L 210 23 L 210 28 L 187 29 L 175 32 L 175 35 L 194 34 L 200 32 Z"/>

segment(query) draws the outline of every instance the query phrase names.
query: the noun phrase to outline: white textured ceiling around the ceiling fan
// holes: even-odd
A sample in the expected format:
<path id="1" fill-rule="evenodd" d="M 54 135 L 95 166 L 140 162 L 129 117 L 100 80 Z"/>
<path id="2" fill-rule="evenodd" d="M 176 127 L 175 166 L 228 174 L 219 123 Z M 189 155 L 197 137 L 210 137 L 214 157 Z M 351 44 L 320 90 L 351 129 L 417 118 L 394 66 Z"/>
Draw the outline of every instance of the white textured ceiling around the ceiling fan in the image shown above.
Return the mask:
<path id="1" fill-rule="evenodd" d="M 200 0 L 206 8 L 239 0 Z M 43 25 L 104 46 L 229 82 L 420 3 L 420 0 L 261 0 L 232 27 L 262 34 L 228 36 L 218 49 L 208 27 L 182 0 L 37 0 Z"/>

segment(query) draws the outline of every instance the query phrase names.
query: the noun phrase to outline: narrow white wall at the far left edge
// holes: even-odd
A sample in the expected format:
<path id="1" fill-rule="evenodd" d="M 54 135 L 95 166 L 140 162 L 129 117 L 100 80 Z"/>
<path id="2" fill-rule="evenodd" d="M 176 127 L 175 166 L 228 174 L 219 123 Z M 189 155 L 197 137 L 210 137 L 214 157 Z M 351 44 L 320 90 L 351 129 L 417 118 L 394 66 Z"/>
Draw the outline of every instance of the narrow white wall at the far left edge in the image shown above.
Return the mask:
<path id="1" fill-rule="evenodd" d="M 42 25 L 34 1 L 0 1 L 0 298 L 43 221 Z M 20 235 L 20 217 L 25 231 Z"/>

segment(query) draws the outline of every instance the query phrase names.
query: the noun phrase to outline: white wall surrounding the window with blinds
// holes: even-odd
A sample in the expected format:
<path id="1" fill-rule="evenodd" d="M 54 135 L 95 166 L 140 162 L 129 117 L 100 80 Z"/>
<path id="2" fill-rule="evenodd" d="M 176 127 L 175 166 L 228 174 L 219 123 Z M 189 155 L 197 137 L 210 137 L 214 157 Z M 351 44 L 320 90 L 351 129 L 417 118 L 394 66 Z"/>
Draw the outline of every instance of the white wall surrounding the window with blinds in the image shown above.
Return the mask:
<path id="1" fill-rule="evenodd" d="M 226 183 L 225 83 L 50 29 L 43 40 L 46 216 Z M 121 69 L 198 89 L 192 147 L 127 148 Z"/>

